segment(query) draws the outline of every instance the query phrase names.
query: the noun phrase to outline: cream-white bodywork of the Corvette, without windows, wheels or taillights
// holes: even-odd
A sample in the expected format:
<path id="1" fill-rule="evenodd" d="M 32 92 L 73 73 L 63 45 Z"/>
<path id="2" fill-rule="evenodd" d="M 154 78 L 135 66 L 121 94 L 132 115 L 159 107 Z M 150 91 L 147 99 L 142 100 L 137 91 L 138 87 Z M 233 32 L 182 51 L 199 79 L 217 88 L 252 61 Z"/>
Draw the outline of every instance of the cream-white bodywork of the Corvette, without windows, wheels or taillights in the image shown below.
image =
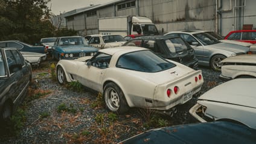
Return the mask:
<path id="1" fill-rule="evenodd" d="M 101 49 L 99 52 L 112 55 L 109 67 L 106 69 L 87 66 L 85 60 L 89 57 L 76 60 L 60 60 L 57 66 L 63 67 L 68 82 L 79 81 L 84 86 L 101 93 L 103 93 L 104 84 L 107 81 L 114 82 L 123 91 L 129 107 L 168 110 L 175 105 L 187 102 L 184 101 L 184 96 L 187 96 L 185 94 L 194 95 L 199 92 L 203 84 L 203 78 L 196 83 L 195 77 L 202 75 L 201 70 L 194 70 L 174 61 L 171 62 L 176 64 L 175 67 L 153 73 L 122 69 L 115 66 L 120 55 L 143 50 L 149 51 L 135 46 Z M 167 89 L 173 90 L 174 86 L 179 87 L 179 92 L 177 95 L 173 92 L 168 98 Z"/>

